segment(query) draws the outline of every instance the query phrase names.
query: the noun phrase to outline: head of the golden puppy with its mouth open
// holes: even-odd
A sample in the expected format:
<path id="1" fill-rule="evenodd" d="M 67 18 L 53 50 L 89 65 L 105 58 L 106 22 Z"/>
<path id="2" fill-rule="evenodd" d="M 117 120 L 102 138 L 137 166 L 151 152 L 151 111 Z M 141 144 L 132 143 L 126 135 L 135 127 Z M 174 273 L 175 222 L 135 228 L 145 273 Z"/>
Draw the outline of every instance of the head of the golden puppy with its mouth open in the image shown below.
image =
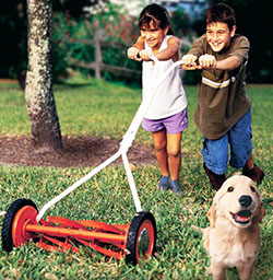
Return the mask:
<path id="1" fill-rule="evenodd" d="M 215 219 L 225 218 L 244 229 L 260 223 L 264 214 L 262 198 L 254 182 L 244 175 L 235 175 L 225 180 L 207 212 L 212 228 Z"/>

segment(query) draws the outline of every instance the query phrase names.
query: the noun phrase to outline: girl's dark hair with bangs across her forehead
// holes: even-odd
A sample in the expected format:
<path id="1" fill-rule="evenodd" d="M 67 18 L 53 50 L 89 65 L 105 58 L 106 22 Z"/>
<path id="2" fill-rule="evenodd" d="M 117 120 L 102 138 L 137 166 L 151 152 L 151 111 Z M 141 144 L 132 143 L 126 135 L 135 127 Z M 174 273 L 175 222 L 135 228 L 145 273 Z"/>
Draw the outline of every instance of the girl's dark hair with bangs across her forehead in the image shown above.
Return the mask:
<path id="1" fill-rule="evenodd" d="M 168 11 L 164 7 L 153 3 L 153 4 L 146 5 L 142 10 L 139 19 L 139 27 L 141 28 L 142 26 L 146 26 L 147 28 L 150 28 L 151 22 L 154 24 L 155 27 L 159 27 L 162 30 L 169 26 L 167 34 L 168 35 L 174 34 L 174 31 L 170 26 Z"/>

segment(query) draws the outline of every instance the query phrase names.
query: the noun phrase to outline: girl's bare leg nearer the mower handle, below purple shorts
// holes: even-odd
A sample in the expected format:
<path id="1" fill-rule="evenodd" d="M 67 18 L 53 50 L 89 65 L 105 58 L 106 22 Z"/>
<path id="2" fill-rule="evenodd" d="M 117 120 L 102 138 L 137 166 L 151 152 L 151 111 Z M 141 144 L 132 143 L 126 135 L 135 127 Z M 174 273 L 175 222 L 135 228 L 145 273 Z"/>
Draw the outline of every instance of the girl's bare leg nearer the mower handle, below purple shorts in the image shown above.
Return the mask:
<path id="1" fill-rule="evenodd" d="M 167 155 L 167 137 L 166 130 L 162 129 L 156 132 L 152 132 L 154 140 L 155 156 L 158 162 L 163 176 L 168 177 L 168 155 Z"/>

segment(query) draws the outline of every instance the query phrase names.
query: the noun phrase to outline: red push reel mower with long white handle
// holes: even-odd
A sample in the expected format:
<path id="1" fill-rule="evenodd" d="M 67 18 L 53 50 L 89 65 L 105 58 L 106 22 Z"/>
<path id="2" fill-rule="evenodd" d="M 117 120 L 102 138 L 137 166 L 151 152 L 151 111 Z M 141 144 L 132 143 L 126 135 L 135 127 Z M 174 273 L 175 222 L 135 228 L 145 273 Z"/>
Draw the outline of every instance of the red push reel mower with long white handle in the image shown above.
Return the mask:
<path id="1" fill-rule="evenodd" d="M 156 65 L 157 59 L 153 58 L 153 60 Z M 143 116 L 156 91 L 167 75 L 180 65 L 181 61 L 175 62 L 166 71 L 162 81 L 152 90 L 149 97 L 142 101 L 116 154 L 47 202 L 39 212 L 35 203 L 29 199 L 17 199 L 11 203 L 2 223 L 2 246 L 4 250 L 11 252 L 13 246 L 19 247 L 34 240 L 38 247 L 48 252 L 72 250 L 78 253 L 80 250 L 79 246 L 85 245 L 116 259 L 126 257 L 126 261 L 133 265 L 136 265 L 140 259 L 147 259 L 150 256 L 153 256 L 156 247 L 155 219 L 152 213 L 145 212 L 141 208 L 127 152 L 135 138 Z M 122 158 L 136 209 L 136 214 L 129 224 L 110 225 L 99 221 L 72 221 L 61 217 L 41 219 L 50 207 L 119 156 Z"/>

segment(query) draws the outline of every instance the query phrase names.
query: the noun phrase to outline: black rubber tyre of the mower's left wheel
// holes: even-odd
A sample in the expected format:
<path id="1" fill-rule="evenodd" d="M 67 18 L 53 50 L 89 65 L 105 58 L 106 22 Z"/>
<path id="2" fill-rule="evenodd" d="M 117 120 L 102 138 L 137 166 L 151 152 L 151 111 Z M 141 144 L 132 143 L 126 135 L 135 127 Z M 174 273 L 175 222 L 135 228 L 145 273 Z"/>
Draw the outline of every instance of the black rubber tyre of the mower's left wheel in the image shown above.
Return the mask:
<path id="1" fill-rule="evenodd" d="M 25 206 L 31 206 L 37 210 L 36 205 L 31 199 L 20 198 L 10 205 L 4 215 L 2 223 L 2 246 L 7 252 L 11 252 L 13 248 L 12 224 L 14 217 L 16 215 L 17 211 Z"/>

